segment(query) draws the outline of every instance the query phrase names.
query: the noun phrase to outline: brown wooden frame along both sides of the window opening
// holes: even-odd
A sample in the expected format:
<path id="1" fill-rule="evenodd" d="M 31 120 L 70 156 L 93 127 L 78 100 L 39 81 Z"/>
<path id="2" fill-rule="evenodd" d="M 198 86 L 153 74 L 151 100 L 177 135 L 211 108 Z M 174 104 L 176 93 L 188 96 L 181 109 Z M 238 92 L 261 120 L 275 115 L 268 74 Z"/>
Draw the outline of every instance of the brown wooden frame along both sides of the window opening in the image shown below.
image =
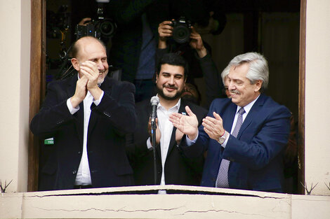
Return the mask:
<path id="1" fill-rule="evenodd" d="M 305 184 L 305 45 L 306 1 L 301 0 L 299 42 L 299 103 L 298 103 L 298 182 Z M 29 121 L 39 111 L 45 95 L 46 78 L 46 0 L 31 0 L 31 61 Z M 38 190 L 39 141 L 29 132 L 27 190 Z M 298 192 L 305 194 L 298 183 Z"/>

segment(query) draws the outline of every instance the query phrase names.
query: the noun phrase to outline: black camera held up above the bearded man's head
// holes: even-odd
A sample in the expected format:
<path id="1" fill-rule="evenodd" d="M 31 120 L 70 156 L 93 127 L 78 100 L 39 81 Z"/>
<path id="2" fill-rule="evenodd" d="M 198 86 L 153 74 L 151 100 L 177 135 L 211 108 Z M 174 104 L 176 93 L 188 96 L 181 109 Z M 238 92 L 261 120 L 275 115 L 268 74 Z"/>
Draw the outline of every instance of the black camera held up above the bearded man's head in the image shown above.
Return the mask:
<path id="1" fill-rule="evenodd" d="M 190 41 L 190 27 L 192 27 L 190 20 L 180 17 L 178 20 L 173 20 L 171 26 L 173 27 L 172 38 L 174 41 L 177 43 L 187 43 Z"/>

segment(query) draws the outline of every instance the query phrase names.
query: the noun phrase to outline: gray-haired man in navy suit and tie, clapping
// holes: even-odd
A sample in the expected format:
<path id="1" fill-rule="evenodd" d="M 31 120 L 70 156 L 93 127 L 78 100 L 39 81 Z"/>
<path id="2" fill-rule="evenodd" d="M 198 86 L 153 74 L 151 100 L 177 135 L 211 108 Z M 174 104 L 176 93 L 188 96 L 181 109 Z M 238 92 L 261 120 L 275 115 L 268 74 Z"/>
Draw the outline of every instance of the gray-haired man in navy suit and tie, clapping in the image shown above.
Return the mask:
<path id="1" fill-rule="evenodd" d="M 170 116 L 186 134 L 180 148 L 187 157 L 208 150 L 203 186 L 282 192 L 290 112 L 262 93 L 268 85 L 268 63 L 248 52 L 226 69 L 231 99 L 215 99 L 202 126 L 198 128 L 188 107 L 188 115 Z"/>

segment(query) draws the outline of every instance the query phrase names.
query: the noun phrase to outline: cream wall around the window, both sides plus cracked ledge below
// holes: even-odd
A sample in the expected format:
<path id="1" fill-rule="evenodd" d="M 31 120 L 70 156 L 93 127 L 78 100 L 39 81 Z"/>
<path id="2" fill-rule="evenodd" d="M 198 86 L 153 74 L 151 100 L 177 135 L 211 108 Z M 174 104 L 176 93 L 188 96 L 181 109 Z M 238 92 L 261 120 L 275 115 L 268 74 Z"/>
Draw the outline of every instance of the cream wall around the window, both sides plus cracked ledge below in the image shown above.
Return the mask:
<path id="1" fill-rule="evenodd" d="M 199 218 L 202 216 L 204 218 L 218 218 L 218 216 L 329 218 L 329 197 L 320 196 L 272 195 L 264 192 L 251 192 L 251 195 L 246 197 L 232 195 L 121 196 L 105 195 L 106 193 L 101 193 L 103 197 L 100 195 L 77 197 L 57 196 L 60 191 L 11 193 L 24 192 L 27 189 L 30 4 L 29 0 L 0 0 L 2 28 L 0 34 L 0 179 L 3 182 L 13 179 L 13 183 L 7 190 L 9 193 L 0 196 L 1 216 L 38 218 L 56 213 L 59 218 L 64 218 L 65 216 L 74 217 L 72 213 L 77 213 L 76 216 L 79 217 L 84 217 L 86 216 L 84 213 L 88 213 L 90 217 L 119 218 L 123 216 L 120 213 L 124 212 L 124 217 L 127 218 L 145 216 L 192 218 L 197 216 L 196 213 L 202 213 L 199 214 Z M 330 118 L 326 116 L 327 108 L 330 106 L 327 89 L 330 84 L 329 8 L 329 0 L 308 1 L 307 4 L 305 178 L 308 185 L 319 183 L 312 195 L 330 195 L 324 185 L 324 183 L 329 185 L 330 182 Z M 112 190 L 112 188 L 107 188 L 107 190 Z M 213 188 L 212 190 L 220 189 Z M 249 193 L 249 191 L 242 191 L 244 194 L 246 192 Z M 56 195 L 52 195 L 53 193 Z M 251 207 L 246 208 L 246 206 Z M 139 215 L 136 214 L 138 209 L 141 209 Z"/>

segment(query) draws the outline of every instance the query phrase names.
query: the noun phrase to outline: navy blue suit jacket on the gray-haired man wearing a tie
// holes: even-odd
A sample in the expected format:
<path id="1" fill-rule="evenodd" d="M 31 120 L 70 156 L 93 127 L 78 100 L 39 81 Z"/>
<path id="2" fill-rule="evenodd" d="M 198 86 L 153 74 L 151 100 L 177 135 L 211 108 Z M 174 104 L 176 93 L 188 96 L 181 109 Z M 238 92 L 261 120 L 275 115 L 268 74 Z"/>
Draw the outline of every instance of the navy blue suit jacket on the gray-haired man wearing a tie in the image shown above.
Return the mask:
<path id="1" fill-rule="evenodd" d="M 232 128 L 237 106 L 231 99 L 215 99 L 209 110 L 223 118 L 227 132 Z M 270 97 L 261 94 L 246 116 L 237 138 L 230 135 L 225 149 L 209 139 L 203 126 L 192 146 L 181 148 L 187 157 L 194 157 L 208 150 L 202 186 L 214 187 L 222 158 L 230 160 L 228 181 L 230 188 L 282 192 L 283 150 L 290 132 L 290 112 Z"/>

